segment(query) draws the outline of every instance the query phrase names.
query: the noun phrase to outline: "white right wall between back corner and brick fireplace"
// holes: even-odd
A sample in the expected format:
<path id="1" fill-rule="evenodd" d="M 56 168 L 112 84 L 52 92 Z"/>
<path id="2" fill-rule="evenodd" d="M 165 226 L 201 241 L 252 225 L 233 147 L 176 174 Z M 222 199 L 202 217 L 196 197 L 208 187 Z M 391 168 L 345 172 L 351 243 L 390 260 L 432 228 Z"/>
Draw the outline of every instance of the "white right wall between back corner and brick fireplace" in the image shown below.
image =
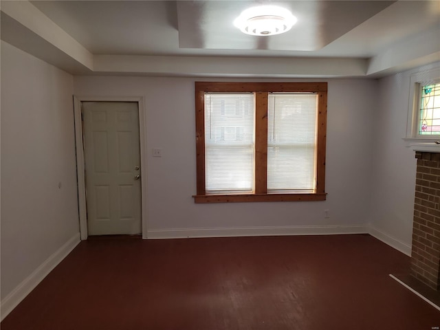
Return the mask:
<path id="1" fill-rule="evenodd" d="M 410 77 L 434 67 L 440 65 L 426 65 L 379 80 L 377 118 L 371 135 L 372 233 L 407 254 L 411 247 L 417 164 L 415 151 L 402 140 L 406 137 Z"/>

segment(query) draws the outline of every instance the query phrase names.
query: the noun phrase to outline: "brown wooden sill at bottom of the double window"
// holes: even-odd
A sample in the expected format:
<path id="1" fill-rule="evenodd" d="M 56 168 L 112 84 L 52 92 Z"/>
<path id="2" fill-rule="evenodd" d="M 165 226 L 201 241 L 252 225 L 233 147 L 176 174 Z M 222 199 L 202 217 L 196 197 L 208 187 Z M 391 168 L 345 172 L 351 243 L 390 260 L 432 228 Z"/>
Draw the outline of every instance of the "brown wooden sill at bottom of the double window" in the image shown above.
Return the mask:
<path id="1" fill-rule="evenodd" d="M 325 201 L 327 194 L 245 194 L 245 195 L 195 195 L 195 203 L 243 203 L 259 201 Z"/>

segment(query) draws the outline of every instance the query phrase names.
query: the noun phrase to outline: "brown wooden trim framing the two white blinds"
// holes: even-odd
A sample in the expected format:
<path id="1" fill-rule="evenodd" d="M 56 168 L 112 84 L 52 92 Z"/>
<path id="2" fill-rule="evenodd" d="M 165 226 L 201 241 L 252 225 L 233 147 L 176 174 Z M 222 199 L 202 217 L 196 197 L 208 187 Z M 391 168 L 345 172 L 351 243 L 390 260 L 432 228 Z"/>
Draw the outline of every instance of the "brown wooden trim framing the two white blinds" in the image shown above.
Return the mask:
<path id="1" fill-rule="evenodd" d="M 255 184 L 253 194 L 206 195 L 204 101 L 208 92 L 249 92 L 255 95 Z M 318 94 L 316 189 L 311 193 L 267 194 L 267 97 L 270 92 Z M 195 203 L 249 201 L 324 201 L 327 132 L 327 83 L 195 83 L 197 195 Z"/>

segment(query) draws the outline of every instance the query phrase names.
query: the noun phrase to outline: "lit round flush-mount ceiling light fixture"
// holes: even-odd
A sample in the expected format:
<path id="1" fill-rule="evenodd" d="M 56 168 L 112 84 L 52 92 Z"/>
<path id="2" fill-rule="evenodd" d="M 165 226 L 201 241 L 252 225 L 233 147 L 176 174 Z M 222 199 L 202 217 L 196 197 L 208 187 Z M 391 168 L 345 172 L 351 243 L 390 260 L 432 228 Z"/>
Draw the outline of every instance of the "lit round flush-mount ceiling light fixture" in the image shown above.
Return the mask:
<path id="1" fill-rule="evenodd" d="M 297 19 L 289 10 L 276 5 L 261 5 L 244 10 L 234 25 L 252 36 L 273 36 L 289 31 Z"/>

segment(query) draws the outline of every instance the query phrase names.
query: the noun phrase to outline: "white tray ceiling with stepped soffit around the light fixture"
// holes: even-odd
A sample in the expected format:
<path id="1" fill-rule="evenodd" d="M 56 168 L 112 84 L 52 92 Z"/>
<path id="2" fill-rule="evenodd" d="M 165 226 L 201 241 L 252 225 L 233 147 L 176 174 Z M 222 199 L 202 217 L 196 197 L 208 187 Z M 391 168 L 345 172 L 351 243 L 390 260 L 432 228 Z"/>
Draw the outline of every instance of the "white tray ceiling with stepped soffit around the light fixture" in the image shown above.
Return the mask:
<path id="1" fill-rule="evenodd" d="M 298 23 L 243 34 L 256 3 Z M 1 39 L 74 74 L 369 76 L 439 61 L 439 36 L 440 1 L 1 1 Z"/>

